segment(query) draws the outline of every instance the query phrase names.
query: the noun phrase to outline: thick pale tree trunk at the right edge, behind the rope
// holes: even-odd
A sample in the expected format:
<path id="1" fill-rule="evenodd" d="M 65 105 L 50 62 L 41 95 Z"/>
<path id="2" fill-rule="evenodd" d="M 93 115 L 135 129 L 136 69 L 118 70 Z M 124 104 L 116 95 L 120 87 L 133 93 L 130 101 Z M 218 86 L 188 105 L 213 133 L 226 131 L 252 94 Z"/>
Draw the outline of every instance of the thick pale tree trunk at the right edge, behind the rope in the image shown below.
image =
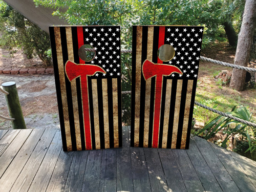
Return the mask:
<path id="1" fill-rule="evenodd" d="M 246 0 L 242 26 L 238 35 L 238 45 L 236 56 L 234 57 L 234 65 L 247 67 L 250 57 L 252 38 L 256 25 L 256 1 Z M 246 71 L 233 69 L 230 80 L 232 89 L 242 91 L 245 88 Z"/>

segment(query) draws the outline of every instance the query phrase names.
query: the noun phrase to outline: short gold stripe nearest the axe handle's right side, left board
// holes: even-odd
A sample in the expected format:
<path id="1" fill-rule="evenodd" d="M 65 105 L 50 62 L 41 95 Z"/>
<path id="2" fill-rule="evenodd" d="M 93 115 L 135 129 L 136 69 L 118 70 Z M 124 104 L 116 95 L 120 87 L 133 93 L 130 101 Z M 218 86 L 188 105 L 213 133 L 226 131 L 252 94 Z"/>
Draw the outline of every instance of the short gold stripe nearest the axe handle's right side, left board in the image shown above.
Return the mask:
<path id="1" fill-rule="evenodd" d="M 93 94 L 95 145 L 96 145 L 96 150 L 99 150 L 100 134 L 99 134 L 99 111 L 98 111 L 99 104 L 98 104 L 97 79 L 92 79 L 92 94 Z"/>

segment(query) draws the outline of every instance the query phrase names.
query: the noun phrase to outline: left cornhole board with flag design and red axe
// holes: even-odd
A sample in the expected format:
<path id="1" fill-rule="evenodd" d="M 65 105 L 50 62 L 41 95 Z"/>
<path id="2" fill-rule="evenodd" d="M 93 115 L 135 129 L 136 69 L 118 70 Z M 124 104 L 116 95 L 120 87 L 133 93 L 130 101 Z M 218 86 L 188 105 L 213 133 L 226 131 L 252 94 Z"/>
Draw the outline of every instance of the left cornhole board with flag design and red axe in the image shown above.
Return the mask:
<path id="1" fill-rule="evenodd" d="M 120 27 L 49 31 L 63 151 L 120 147 Z"/>

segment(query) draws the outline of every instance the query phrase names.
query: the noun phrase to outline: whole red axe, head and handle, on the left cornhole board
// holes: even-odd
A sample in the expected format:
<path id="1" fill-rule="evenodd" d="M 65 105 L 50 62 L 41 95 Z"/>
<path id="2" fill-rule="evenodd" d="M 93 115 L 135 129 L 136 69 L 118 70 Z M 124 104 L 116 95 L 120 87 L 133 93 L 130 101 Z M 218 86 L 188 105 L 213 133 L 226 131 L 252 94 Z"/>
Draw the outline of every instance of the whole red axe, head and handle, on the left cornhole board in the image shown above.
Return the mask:
<path id="1" fill-rule="evenodd" d="M 91 150 L 92 142 L 91 142 L 91 129 L 90 129 L 87 76 L 92 76 L 96 72 L 100 72 L 100 73 L 106 73 L 106 72 L 99 66 L 88 65 L 88 64 L 86 65 L 76 64 L 69 60 L 66 62 L 65 72 L 67 74 L 69 81 L 72 81 L 73 79 L 80 76 L 84 134 L 86 135 L 86 150 Z"/>

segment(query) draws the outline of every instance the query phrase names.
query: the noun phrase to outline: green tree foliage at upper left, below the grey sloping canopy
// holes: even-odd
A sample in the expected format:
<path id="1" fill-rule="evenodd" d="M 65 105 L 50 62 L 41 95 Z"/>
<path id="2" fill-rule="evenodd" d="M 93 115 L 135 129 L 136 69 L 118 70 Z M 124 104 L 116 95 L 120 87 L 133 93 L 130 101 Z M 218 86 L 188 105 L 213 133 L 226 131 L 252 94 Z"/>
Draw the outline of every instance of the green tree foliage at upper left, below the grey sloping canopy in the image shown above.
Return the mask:
<path id="1" fill-rule="evenodd" d="M 46 65 L 50 64 L 49 35 L 2 1 L 0 26 L 0 46 L 9 50 L 22 49 L 28 58 L 38 55 Z"/>

